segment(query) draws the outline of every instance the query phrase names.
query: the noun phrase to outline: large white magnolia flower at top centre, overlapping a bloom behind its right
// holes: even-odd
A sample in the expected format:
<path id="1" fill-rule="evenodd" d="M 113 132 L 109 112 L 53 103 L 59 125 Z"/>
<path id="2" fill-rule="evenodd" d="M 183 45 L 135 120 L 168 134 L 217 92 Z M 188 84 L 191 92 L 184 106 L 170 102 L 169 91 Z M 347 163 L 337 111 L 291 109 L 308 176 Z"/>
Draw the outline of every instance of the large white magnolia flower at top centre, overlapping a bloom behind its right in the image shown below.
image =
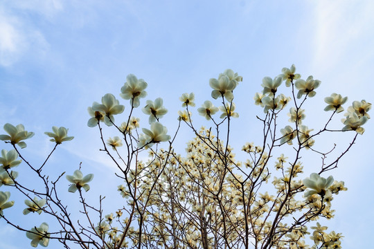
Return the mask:
<path id="1" fill-rule="evenodd" d="M 215 100 L 221 96 L 226 98 L 227 101 L 231 102 L 233 100 L 233 89 L 235 89 L 236 84 L 227 75 L 220 75 L 217 79 L 211 78 L 209 80 L 209 85 L 213 89 L 212 98 Z"/>

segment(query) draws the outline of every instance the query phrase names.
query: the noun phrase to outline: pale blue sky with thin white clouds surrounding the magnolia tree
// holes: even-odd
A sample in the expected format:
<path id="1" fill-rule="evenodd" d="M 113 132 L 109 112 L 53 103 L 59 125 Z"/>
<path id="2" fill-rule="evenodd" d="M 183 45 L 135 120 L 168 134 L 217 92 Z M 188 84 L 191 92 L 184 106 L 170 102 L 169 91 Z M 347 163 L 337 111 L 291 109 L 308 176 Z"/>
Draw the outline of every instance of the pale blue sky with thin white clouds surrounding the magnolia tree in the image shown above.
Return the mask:
<path id="1" fill-rule="evenodd" d="M 239 151 L 244 142 L 258 139 L 256 115 L 261 110 L 254 107 L 253 95 L 260 91 L 262 77 L 274 77 L 291 64 L 303 78 L 314 75 L 322 82 L 310 105 L 310 127 L 326 115 L 318 110 L 330 93 L 348 95 L 349 104 L 373 103 L 373 10 L 370 0 L 4 0 L 0 2 L 0 127 L 22 123 L 36 133 L 24 149 L 35 163 L 53 147 L 44 131 L 53 125 L 68 127 L 75 139 L 56 152 L 51 172 L 72 174 L 82 161 L 84 172 L 96 173 L 93 184 L 109 186 L 109 176 L 98 176 L 112 166 L 105 154 L 98 153 L 98 131 L 86 125 L 92 102 L 105 93 L 120 98 L 126 75 L 134 73 L 148 82 L 146 99 L 163 98 L 169 112 L 161 121 L 172 132 L 181 109 L 179 95 L 194 92 L 198 107 L 211 99 L 208 80 L 232 68 L 244 79 L 235 95 L 240 120 L 234 124 L 231 143 Z M 126 112 L 128 102 L 120 101 L 127 105 Z M 138 116 L 146 122 L 143 113 Z M 197 112 L 193 120 L 209 125 Z M 342 127 L 339 120 L 336 124 Z M 343 248 L 367 248 L 363 238 L 373 231 L 371 120 L 365 128 L 357 146 L 332 172 L 348 187 L 335 198 L 337 212 L 328 223 L 344 233 Z M 193 136 L 188 129 L 183 131 L 179 149 Z M 107 134 L 112 136 L 111 131 Z M 338 145 L 348 141 L 341 136 L 332 139 Z M 3 144 L 1 149 L 10 148 Z M 312 172 L 313 165 L 308 167 L 305 172 Z M 23 199 L 15 201 L 22 210 Z M 30 241 L 24 234 L 19 239 L 19 234 L 2 223 L 0 249 L 28 248 Z"/>

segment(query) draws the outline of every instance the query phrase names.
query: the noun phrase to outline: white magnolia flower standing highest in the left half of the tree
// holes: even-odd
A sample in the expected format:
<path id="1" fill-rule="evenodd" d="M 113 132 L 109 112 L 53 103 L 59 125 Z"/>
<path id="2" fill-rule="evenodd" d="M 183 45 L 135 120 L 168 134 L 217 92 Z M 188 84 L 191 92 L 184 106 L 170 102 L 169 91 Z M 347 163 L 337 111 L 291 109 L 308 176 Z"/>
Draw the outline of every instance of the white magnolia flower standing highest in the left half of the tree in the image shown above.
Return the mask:
<path id="1" fill-rule="evenodd" d="M 139 107 L 140 98 L 144 98 L 147 92 L 147 82 L 143 79 L 137 79 L 135 75 L 130 74 L 126 77 L 127 82 L 121 87 L 121 97 L 125 100 L 130 100 L 132 107 Z"/>

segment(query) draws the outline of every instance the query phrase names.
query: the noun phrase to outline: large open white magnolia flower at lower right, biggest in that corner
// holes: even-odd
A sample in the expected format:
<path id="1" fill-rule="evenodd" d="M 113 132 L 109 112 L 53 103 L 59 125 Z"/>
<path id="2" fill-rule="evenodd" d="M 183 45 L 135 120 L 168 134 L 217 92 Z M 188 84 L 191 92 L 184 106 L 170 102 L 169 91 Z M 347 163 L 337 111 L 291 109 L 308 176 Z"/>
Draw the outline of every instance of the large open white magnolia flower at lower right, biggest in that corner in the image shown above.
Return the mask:
<path id="1" fill-rule="evenodd" d="M 329 176 L 327 179 L 319 176 L 317 173 L 310 174 L 310 178 L 305 178 L 303 180 L 303 184 L 305 187 L 309 187 L 312 190 L 309 190 L 308 192 L 305 192 L 304 196 L 308 197 L 312 194 L 320 194 L 321 196 L 324 196 L 326 194 L 326 191 L 328 190 L 328 187 L 334 183 L 334 178 L 332 176 Z"/>

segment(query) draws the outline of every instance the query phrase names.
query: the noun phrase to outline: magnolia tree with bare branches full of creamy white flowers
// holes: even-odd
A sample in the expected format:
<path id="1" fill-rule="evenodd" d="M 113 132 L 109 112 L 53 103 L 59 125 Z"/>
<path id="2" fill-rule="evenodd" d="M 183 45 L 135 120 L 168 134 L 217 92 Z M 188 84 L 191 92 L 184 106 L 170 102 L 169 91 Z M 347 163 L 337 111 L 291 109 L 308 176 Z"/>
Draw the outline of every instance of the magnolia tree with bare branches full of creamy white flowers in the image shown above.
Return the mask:
<path id="1" fill-rule="evenodd" d="M 121 203 L 121 208 L 111 212 L 108 208 L 104 212 L 101 196 L 97 205 L 86 201 L 93 174 L 79 168 L 52 179 L 45 173 L 57 146 L 73 139 L 67 135 L 68 129 L 53 127 L 53 132 L 46 132 L 55 146 L 44 163 L 35 166 L 22 153 L 24 140 L 34 133 L 22 124 L 5 124 L 8 135 L 0 135 L 8 146 L 0 158 L 2 222 L 26 232 L 33 247 L 48 246 L 54 239 L 64 248 L 341 248 L 341 234 L 321 225 L 333 217 L 335 194 L 346 190 L 343 181 L 330 176 L 330 170 L 338 166 L 358 134 L 364 133 L 362 125 L 370 118 L 371 104 L 354 101 L 342 116 L 344 124 L 332 127 L 331 121 L 341 115 L 338 113 L 344 111 L 347 101 L 347 97 L 332 93 L 325 98 L 324 109 L 330 118 L 310 129 L 304 123 L 303 107 L 316 95 L 321 82 L 312 76 L 302 80 L 294 65 L 283 68 L 274 79 L 265 77 L 260 93 L 254 96 L 254 103 L 263 110 L 257 116 L 262 140 L 257 145 L 246 143 L 242 151 L 247 160 L 238 161 L 229 140 L 231 122 L 239 116 L 233 102 L 239 82 L 242 77 L 230 69 L 209 80 L 211 97 L 218 107 L 206 100 L 197 108 L 209 128 L 197 128 L 191 120 L 193 93 L 179 98 L 184 110 L 178 112 L 177 131 L 170 133 L 161 123 L 168 112 L 161 98 L 142 105 L 141 111 L 149 119 L 140 122 L 136 113 L 148 84 L 131 74 L 120 93 L 121 98 L 130 100 L 127 111 L 110 93 L 88 108 L 88 126 L 98 130 L 103 143 L 100 150 L 116 166 L 116 203 Z M 287 86 L 287 93 L 278 92 L 281 84 Z M 117 118 L 124 112 L 125 116 Z M 283 116 L 288 116 L 289 123 L 279 129 L 278 120 Z M 183 154 L 173 149 L 181 125 L 189 127 L 194 136 Z M 118 136 L 108 138 L 107 129 L 116 130 Z M 354 134 L 353 140 L 335 153 L 337 156 L 331 153 L 336 147 L 321 151 L 314 146 L 315 138 L 323 139 L 332 132 Z M 306 178 L 300 160 L 305 150 L 322 158 L 314 166 L 315 173 Z M 143 154 L 148 160 L 139 159 L 145 158 Z M 18 165 L 20 173 L 15 171 Z M 40 187 L 17 181 L 25 167 L 33 172 L 30 177 L 39 181 Z M 62 201 L 62 191 L 79 196 L 80 212 Z M 43 222 L 16 223 L 15 217 L 8 216 L 6 209 L 15 204 L 11 192 L 24 195 L 24 203 L 16 203 L 24 205 L 24 215 L 40 215 Z M 53 230 L 48 228 L 48 221 L 56 224 Z"/>

